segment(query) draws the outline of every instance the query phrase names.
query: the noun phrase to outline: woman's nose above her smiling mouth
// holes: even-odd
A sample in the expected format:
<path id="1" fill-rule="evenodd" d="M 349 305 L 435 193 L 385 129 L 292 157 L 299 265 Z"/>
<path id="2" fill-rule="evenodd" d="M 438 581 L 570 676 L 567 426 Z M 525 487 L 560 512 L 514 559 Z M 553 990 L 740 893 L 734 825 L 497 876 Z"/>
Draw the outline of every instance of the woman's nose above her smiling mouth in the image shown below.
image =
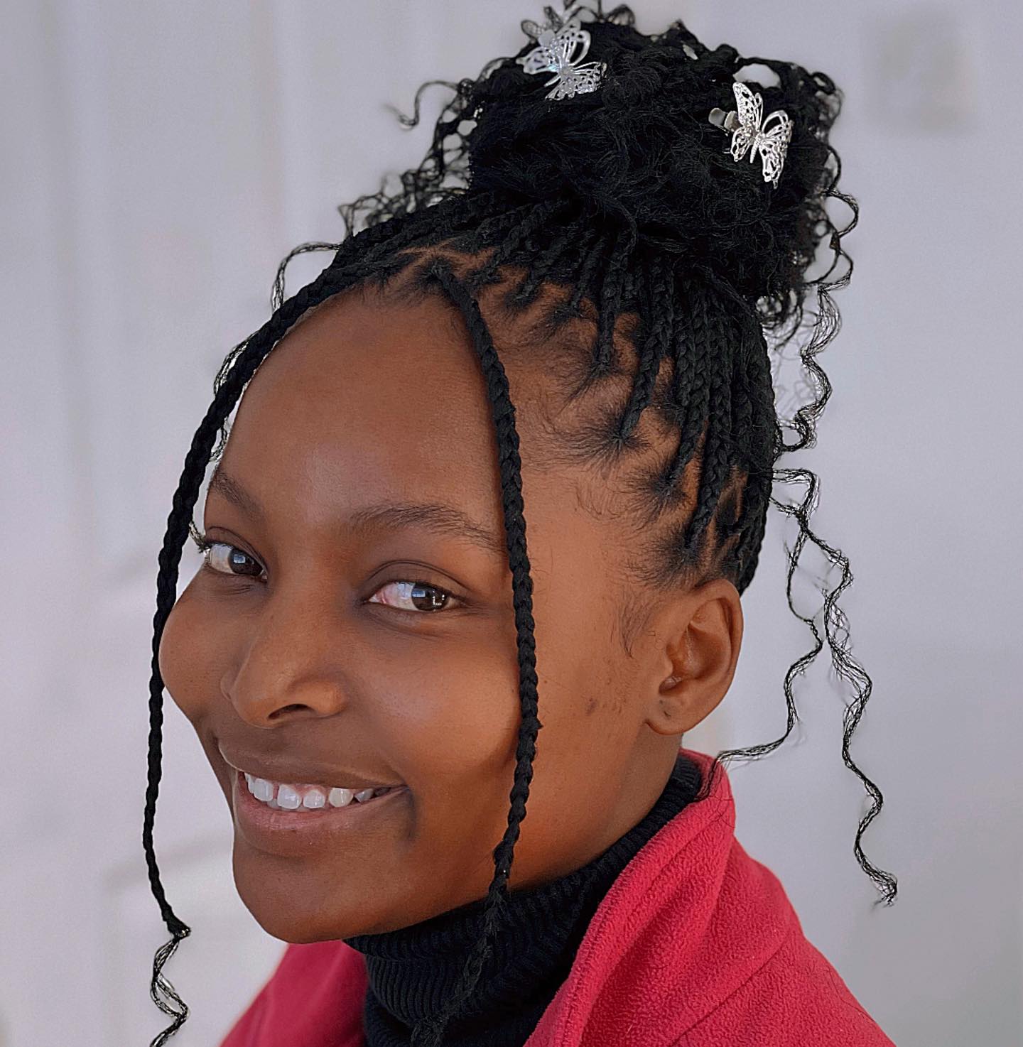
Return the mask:
<path id="1" fill-rule="evenodd" d="M 255 727 L 333 716 L 346 705 L 341 633 L 336 605 L 279 593 L 253 620 L 221 691 Z"/>

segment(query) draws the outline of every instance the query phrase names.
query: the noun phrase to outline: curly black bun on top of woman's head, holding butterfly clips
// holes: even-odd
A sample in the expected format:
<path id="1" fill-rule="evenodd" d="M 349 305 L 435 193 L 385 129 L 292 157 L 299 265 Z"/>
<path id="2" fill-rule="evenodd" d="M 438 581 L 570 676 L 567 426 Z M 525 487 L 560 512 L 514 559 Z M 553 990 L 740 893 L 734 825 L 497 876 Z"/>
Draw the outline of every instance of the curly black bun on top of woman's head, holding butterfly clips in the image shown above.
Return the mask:
<path id="1" fill-rule="evenodd" d="M 525 72 L 517 55 L 490 74 L 458 85 L 469 185 L 516 200 L 575 197 L 641 242 L 699 260 L 756 302 L 761 318 L 780 324 L 802 305 L 806 270 L 828 232 L 825 210 L 838 172 L 828 129 L 840 92 L 822 73 L 791 62 L 743 59 L 731 46 L 710 50 L 681 22 L 657 36 L 640 34 L 620 7 L 607 21 L 584 22 L 586 60 L 606 63 L 598 90 L 549 101 L 546 77 Z M 793 121 L 777 187 L 759 163 L 736 162 L 729 136 L 708 119 L 734 109 L 732 85 L 743 66 L 772 69 L 774 86 L 747 81 L 763 96 L 764 112 L 784 110 Z"/>

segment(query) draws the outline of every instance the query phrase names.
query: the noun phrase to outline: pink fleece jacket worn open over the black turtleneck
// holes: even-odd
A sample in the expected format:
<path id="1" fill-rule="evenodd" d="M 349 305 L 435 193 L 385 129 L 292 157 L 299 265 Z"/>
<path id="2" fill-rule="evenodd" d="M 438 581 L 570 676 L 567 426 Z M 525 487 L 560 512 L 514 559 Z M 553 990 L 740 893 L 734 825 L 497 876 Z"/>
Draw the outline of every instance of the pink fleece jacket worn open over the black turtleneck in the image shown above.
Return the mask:
<path id="1" fill-rule="evenodd" d="M 366 985 L 342 941 L 288 945 L 221 1047 L 363 1047 Z M 724 770 L 622 870 L 525 1047 L 633 1045 L 894 1047 L 735 839 Z"/>

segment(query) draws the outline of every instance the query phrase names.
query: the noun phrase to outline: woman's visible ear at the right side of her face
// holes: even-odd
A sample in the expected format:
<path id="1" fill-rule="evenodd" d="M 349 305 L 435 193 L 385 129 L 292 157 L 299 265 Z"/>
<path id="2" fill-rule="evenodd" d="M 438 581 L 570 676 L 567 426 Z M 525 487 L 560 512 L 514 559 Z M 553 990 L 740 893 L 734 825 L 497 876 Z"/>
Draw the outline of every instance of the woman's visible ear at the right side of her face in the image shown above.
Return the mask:
<path id="1" fill-rule="evenodd" d="M 651 620 L 655 644 L 649 664 L 646 723 L 662 735 L 682 735 L 725 697 L 742 645 L 738 589 L 715 578 L 680 594 Z"/>

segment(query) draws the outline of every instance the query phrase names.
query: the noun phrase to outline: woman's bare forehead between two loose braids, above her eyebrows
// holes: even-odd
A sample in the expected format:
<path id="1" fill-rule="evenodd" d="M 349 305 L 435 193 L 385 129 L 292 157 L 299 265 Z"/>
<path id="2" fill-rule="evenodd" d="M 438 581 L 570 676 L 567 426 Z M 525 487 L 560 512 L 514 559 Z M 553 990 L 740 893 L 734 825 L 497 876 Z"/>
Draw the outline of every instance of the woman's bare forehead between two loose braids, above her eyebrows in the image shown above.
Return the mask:
<path id="1" fill-rule="evenodd" d="M 432 297 L 396 305 L 354 291 L 328 299 L 250 381 L 225 465 L 378 495 L 441 487 L 484 498 L 496 442 L 460 325 Z"/>

